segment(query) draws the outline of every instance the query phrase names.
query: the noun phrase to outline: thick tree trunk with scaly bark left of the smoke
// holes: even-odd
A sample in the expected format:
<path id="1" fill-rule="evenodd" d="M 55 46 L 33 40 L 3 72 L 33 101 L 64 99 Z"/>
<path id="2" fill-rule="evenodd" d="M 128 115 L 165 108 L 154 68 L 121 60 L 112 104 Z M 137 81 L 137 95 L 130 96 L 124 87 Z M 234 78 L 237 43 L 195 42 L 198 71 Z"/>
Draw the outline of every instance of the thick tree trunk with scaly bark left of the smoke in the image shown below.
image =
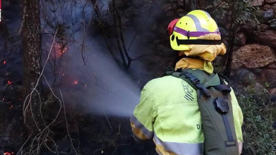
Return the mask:
<path id="1" fill-rule="evenodd" d="M 24 77 L 23 85 L 25 88 L 25 97 L 34 89 L 41 71 L 41 38 L 40 38 L 40 0 L 25 0 L 23 15 L 23 45 L 24 45 Z M 37 91 L 31 96 L 26 112 L 25 125 L 28 132 L 34 133 L 40 131 L 40 85 L 36 87 Z M 37 93 L 38 92 L 38 93 Z M 29 97 L 27 98 L 28 104 Z"/>

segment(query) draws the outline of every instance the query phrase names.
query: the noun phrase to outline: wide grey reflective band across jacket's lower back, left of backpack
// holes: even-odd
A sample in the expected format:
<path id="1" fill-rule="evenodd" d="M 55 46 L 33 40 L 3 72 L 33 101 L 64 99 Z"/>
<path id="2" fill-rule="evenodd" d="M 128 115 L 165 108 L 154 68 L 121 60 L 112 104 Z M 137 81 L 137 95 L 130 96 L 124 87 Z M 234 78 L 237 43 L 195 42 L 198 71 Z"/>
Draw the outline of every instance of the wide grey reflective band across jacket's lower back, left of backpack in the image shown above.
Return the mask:
<path id="1" fill-rule="evenodd" d="M 181 143 L 181 142 L 163 142 L 154 133 L 154 142 L 164 147 L 166 151 L 175 154 L 199 155 L 203 154 L 204 143 Z"/>

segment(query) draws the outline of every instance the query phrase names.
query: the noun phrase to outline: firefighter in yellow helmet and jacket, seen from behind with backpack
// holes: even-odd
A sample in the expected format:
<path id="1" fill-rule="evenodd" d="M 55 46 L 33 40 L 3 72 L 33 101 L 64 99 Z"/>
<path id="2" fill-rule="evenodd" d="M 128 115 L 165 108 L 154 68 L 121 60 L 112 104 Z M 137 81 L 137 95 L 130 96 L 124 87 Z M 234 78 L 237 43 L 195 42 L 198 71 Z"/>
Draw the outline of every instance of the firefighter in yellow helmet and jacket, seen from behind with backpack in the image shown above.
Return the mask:
<path id="1" fill-rule="evenodd" d="M 226 53 L 210 14 L 194 10 L 168 27 L 181 59 L 149 81 L 130 123 L 135 140 L 152 139 L 159 155 L 238 155 L 243 116 L 229 80 L 211 61 Z"/>

